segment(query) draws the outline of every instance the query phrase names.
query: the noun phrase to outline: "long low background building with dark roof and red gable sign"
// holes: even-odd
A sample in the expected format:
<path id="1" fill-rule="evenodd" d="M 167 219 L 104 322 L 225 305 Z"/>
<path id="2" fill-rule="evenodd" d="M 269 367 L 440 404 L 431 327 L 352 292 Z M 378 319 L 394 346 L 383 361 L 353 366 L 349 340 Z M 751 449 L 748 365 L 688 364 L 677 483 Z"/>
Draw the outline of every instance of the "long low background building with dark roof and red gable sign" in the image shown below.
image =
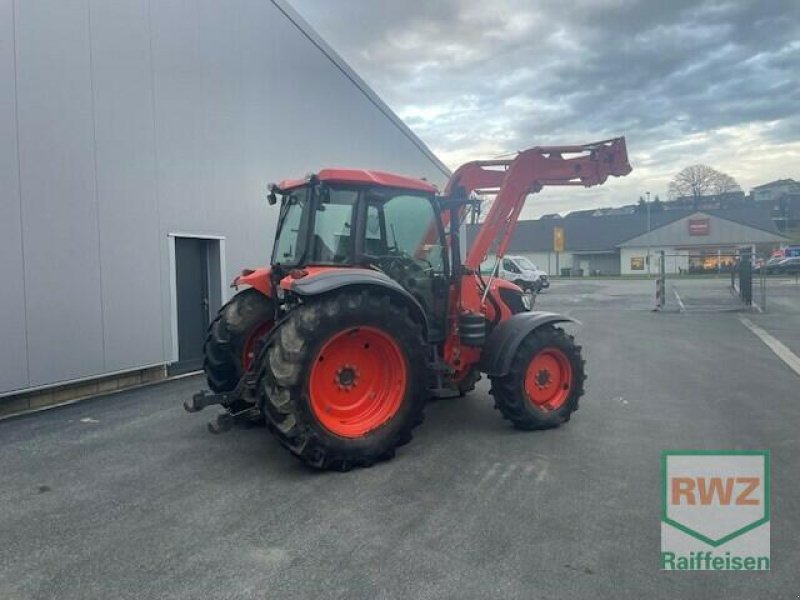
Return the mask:
<path id="1" fill-rule="evenodd" d="M 565 251 L 553 252 L 553 229 L 564 229 Z M 476 235 L 467 228 L 467 241 Z M 594 216 L 571 213 L 566 217 L 520 221 L 507 254 L 521 254 L 552 275 L 645 274 L 658 269 L 656 257 L 667 255 L 668 272 L 724 268 L 741 248 L 764 253 L 789 242 L 780 235 L 768 210 L 665 210 Z"/>

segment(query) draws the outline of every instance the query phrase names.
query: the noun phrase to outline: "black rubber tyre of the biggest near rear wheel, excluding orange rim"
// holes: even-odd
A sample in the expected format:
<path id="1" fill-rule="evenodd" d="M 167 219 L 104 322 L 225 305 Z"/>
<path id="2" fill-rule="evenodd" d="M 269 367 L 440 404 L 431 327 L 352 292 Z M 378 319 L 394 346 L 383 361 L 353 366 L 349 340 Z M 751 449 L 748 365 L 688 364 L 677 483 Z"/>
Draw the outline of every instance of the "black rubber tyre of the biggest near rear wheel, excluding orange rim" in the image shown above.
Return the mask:
<path id="1" fill-rule="evenodd" d="M 427 377 L 422 327 L 406 307 L 379 291 L 343 291 L 304 303 L 279 327 L 261 365 L 259 394 L 270 429 L 294 456 L 318 469 L 347 471 L 393 458 L 396 448 L 411 440 L 422 422 Z M 407 377 L 399 408 L 388 421 L 360 437 L 342 437 L 315 416 L 310 378 L 326 342 L 360 327 L 391 338 Z"/>

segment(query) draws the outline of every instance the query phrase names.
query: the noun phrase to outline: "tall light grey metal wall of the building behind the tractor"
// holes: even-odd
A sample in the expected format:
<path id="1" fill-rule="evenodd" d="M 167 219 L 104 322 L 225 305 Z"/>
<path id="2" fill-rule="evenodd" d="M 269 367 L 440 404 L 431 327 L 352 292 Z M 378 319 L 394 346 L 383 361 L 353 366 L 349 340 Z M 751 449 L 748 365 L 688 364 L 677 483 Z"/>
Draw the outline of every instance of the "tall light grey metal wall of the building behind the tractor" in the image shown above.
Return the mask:
<path id="1" fill-rule="evenodd" d="M 361 84 L 279 0 L 0 0 L 0 393 L 169 361 L 169 234 L 265 263 L 270 181 L 442 185 Z"/>

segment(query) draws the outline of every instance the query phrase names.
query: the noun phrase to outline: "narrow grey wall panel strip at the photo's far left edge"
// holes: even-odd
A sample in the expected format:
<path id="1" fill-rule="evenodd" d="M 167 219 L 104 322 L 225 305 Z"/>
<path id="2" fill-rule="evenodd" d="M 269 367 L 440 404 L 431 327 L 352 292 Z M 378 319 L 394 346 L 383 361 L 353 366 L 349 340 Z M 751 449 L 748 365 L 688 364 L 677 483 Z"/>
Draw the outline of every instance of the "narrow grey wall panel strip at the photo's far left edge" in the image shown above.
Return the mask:
<path id="1" fill-rule="evenodd" d="M 14 84 L 14 6 L 0 0 L 0 393 L 28 385 Z"/>

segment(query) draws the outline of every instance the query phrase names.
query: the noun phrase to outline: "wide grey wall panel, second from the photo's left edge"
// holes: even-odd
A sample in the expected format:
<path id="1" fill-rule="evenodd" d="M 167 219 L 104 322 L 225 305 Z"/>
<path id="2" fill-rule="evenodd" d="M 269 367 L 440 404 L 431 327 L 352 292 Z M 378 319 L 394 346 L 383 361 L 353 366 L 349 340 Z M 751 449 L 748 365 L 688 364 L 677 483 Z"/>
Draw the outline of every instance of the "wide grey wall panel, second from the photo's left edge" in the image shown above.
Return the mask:
<path id="1" fill-rule="evenodd" d="M 19 158 L 32 385 L 103 371 L 89 13 L 18 1 Z"/>

